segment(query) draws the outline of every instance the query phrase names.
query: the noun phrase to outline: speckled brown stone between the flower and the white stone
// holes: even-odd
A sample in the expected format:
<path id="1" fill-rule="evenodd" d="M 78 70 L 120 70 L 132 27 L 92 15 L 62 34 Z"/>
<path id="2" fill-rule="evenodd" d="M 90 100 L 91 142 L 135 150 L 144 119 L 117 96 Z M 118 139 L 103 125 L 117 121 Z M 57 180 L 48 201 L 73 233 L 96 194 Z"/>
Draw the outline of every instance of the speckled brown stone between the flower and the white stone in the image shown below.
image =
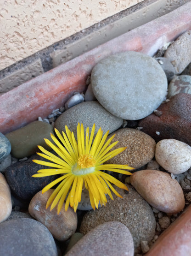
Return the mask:
<path id="1" fill-rule="evenodd" d="M 123 128 L 116 131 L 115 134 L 112 142 L 118 141 L 118 143 L 113 149 L 121 147 L 127 147 L 127 149 L 114 156 L 107 163 L 128 164 L 130 167 L 139 168 L 154 157 L 156 143 L 146 133 L 136 129 Z M 110 136 L 112 135 L 113 133 Z"/>

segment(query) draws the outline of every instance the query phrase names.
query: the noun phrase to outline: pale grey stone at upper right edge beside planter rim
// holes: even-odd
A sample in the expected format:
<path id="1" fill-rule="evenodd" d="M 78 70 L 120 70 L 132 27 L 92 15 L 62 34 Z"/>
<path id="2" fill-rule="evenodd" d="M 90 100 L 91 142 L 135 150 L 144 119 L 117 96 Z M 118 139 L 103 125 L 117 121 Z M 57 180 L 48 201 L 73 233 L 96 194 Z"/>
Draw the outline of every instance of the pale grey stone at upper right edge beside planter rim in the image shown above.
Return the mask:
<path id="1" fill-rule="evenodd" d="M 166 50 L 164 57 L 171 61 L 180 74 L 191 62 L 191 30 L 179 36 Z"/>

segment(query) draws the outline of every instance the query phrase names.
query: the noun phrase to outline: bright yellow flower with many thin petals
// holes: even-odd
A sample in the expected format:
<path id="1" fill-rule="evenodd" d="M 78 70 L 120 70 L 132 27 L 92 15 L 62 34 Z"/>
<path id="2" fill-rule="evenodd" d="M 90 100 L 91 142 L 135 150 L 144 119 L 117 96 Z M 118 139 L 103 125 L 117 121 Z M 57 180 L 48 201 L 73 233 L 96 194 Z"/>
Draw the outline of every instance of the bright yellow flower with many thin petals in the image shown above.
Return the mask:
<path id="1" fill-rule="evenodd" d="M 58 203 L 57 212 L 59 214 L 65 198 L 67 197 L 65 210 L 67 211 L 67 208 L 70 204 L 70 206 L 76 212 L 78 204 L 81 201 L 83 186 L 85 186 L 85 188 L 89 191 L 90 203 L 93 209 L 98 208 L 99 202 L 101 206 L 106 204 L 107 194 L 113 200 L 110 189 L 117 196 L 122 197 L 112 187 L 110 182 L 118 186 L 119 188 L 128 190 L 128 188 L 118 179 L 115 179 L 111 175 L 101 171 L 105 170 L 130 175 L 131 173 L 125 171 L 125 169 L 134 168 L 129 167 L 128 165 L 103 164 L 107 160 L 111 159 L 113 156 L 118 155 L 120 152 L 124 151 L 126 148 L 119 148 L 110 151 L 110 149 L 112 149 L 118 142 L 116 141 L 110 144 L 115 135 L 113 135 L 106 141 L 109 131 L 107 131 L 106 134 L 102 137 L 103 131 L 101 131 L 101 128 L 97 132 L 96 137 L 93 141 L 95 127 L 96 126 L 94 124 L 91 130 L 90 137 L 89 127 L 87 127 L 86 136 L 84 137 L 84 126 L 83 124 L 81 124 L 80 126 L 80 124 L 78 123 L 77 141 L 74 138 L 73 132 L 68 129 L 67 125 L 65 128 L 66 133 L 62 131 L 63 136 L 58 130 L 55 129 L 56 135 L 60 141 L 51 134 L 51 138 L 56 145 L 51 143 L 51 141 L 49 141 L 48 139 L 45 139 L 45 142 L 60 157 L 39 146 L 39 149 L 44 154 L 37 154 L 51 162 L 40 160 L 33 161 L 37 164 L 52 168 L 41 169 L 38 171 L 37 174 L 34 174 L 33 177 L 45 177 L 55 174 L 62 174 L 61 177 L 52 181 L 49 185 L 46 185 L 45 188 L 42 190 L 42 193 L 45 193 L 45 191 L 48 191 L 54 185 L 61 182 L 48 199 L 46 203 L 46 208 L 51 205 L 52 210 Z"/>

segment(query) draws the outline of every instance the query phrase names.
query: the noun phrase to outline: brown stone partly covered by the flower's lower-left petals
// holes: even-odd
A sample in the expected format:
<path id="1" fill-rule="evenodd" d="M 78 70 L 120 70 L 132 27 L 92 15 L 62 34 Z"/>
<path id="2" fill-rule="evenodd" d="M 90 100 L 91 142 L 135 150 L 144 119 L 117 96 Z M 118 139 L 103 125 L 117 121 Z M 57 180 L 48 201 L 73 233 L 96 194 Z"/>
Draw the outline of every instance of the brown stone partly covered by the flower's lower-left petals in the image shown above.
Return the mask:
<path id="1" fill-rule="evenodd" d="M 50 189 L 42 194 L 39 191 L 31 200 L 28 211 L 31 216 L 44 224 L 54 238 L 59 241 L 67 240 L 76 231 L 77 228 L 77 213 L 74 213 L 72 208 L 65 211 L 65 204 L 62 206 L 61 212 L 57 214 L 57 207 L 50 211 L 45 208 L 48 198 L 54 190 Z"/>

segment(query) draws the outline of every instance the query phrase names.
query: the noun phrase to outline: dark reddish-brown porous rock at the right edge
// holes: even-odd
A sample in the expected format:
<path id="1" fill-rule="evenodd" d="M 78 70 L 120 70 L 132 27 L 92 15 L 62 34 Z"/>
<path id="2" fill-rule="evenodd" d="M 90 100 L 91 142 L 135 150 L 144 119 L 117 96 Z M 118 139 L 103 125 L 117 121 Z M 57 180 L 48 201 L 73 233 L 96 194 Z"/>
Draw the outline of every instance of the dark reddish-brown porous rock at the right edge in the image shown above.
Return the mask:
<path id="1" fill-rule="evenodd" d="M 162 112 L 161 116 L 152 113 L 140 120 L 138 125 L 143 127 L 141 131 L 150 135 L 156 142 L 162 139 L 176 139 L 191 146 L 191 94 L 176 94 L 157 110 Z"/>

